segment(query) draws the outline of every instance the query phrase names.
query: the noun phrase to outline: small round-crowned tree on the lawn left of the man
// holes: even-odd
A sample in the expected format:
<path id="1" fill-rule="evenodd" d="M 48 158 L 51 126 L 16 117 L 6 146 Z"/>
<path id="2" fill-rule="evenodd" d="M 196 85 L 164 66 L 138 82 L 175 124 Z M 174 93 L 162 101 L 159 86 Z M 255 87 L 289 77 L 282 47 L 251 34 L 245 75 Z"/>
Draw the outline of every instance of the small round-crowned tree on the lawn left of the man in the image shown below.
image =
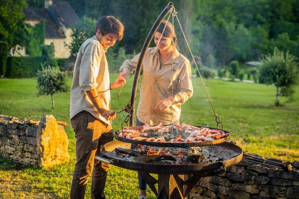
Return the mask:
<path id="1" fill-rule="evenodd" d="M 51 95 L 52 109 L 54 109 L 53 95 L 56 92 L 67 92 L 67 72 L 61 72 L 58 67 L 51 68 L 50 66 L 37 72 L 37 96 Z"/>

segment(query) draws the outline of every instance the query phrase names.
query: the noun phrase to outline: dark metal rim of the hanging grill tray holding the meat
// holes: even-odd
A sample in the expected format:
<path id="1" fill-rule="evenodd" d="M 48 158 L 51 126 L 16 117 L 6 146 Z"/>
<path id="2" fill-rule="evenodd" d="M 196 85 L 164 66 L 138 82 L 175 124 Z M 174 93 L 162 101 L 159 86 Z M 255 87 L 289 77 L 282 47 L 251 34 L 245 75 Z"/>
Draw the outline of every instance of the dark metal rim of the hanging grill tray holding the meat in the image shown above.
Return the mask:
<path id="1" fill-rule="evenodd" d="M 196 127 L 202 127 L 202 126 L 196 126 Z M 211 128 L 211 127 L 206 127 L 206 128 L 210 128 L 210 129 L 218 129 L 221 130 L 219 128 Z M 123 141 L 123 142 L 129 142 L 129 143 L 133 143 L 133 144 L 141 144 L 141 145 L 148 145 L 148 146 L 160 146 L 160 147 L 191 147 L 191 146 L 207 146 L 207 145 L 214 145 L 214 144 L 220 144 L 223 143 L 225 141 L 230 140 L 230 135 L 225 137 L 225 138 L 221 138 L 218 140 L 214 140 L 214 141 L 204 141 L 204 142 L 190 142 L 190 143 L 160 143 L 160 142 L 149 142 L 149 141 L 139 141 L 139 140 L 131 140 L 131 139 L 126 139 L 123 137 L 118 137 L 117 132 L 114 132 L 114 137 L 116 140 L 119 141 Z M 223 130 L 224 133 L 230 133 L 228 131 Z"/>

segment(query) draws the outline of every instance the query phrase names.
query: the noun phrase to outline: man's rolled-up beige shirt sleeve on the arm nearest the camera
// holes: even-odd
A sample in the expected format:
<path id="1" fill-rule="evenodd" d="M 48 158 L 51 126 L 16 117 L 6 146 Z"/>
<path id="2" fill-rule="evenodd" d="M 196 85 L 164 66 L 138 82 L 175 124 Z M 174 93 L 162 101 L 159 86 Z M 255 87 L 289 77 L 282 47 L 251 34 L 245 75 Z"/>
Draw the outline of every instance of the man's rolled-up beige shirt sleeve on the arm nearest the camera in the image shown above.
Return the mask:
<path id="1" fill-rule="evenodd" d="M 80 73 L 79 73 L 79 86 L 85 92 L 97 87 L 96 78 L 100 69 L 100 62 L 102 52 L 99 44 L 91 42 L 84 49 Z"/>

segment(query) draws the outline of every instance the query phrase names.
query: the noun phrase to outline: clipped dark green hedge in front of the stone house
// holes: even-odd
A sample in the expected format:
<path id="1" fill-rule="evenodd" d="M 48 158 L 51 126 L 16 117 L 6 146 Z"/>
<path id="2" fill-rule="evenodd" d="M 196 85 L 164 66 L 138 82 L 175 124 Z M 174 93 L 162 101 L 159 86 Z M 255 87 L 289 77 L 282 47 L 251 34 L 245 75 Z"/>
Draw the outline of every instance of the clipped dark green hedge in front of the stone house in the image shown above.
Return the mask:
<path id="1" fill-rule="evenodd" d="M 8 78 L 35 77 L 37 70 L 41 70 L 41 64 L 46 57 L 8 57 L 5 76 Z"/>

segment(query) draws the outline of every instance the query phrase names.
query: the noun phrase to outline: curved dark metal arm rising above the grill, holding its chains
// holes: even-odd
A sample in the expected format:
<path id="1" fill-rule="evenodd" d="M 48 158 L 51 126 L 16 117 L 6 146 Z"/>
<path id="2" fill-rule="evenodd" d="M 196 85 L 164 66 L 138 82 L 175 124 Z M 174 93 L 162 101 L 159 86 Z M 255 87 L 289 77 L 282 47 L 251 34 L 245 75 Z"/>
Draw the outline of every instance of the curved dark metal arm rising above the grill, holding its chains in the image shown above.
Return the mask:
<path id="1" fill-rule="evenodd" d="M 162 20 L 165 18 L 167 15 L 167 12 L 173 8 L 173 3 L 169 2 L 168 5 L 164 8 L 164 10 L 161 12 L 157 20 L 155 21 L 153 27 L 150 29 L 150 33 L 147 35 L 145 39 L 145 43 L 143 44 L 143 47 L 140 52 L 140 57 L 137 63 L 135 75 L 134 75 L 134 81 L 133 81 L 133 86 L 132 86 L 132 92 L 131 92 L 131 101 L 130 101 L 130 107 L 131 107 L 131 112 L 130 112 L 130 126 L 134 126 L 134 119 L 135 119 L 135 95 L 137 92 L 137 87 L 138 87 L 138 81 L 139 81 L 139 76 L 140 76 L 140 71 L 141 71 L 141 66 L 143 63 L 143 59 L 145 56 L 145 52 L 148 49 L 151 40 L 154 37 L 155 32 L 157 31 L 159 25 L 161 24 Z"/>

